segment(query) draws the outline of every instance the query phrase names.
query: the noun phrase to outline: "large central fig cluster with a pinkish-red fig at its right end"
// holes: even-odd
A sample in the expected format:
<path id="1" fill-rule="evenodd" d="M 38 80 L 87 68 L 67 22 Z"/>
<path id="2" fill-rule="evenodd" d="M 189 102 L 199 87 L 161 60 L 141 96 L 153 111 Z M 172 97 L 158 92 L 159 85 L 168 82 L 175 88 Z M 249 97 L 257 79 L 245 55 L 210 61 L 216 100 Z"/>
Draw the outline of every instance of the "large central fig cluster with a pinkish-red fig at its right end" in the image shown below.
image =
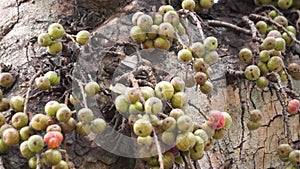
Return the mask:
<path id="1" fill-rule="evenodd" d="M 174 163 L 183 163 L 183 152 L 189 152 L 192 160 L 201 159 L 204 151 L 213 146 L 213 139 L 223 138 L 230 127 L 230 115 L 220 111 L 212 111 L 210 120 L 196 127 L 188 114 L 188 96 L 184 88 L 185 82 L 174 77 L 170 82 L 157 83 L 154 89 L 128 87 L 124 94 L 115 98 L 116 109 L 128 116 L 128 123 L 136 135 L 139 157 L 150 167 L 159 166 L 153 132 L 163 151 L 164 167 L 171 168 Z"/>

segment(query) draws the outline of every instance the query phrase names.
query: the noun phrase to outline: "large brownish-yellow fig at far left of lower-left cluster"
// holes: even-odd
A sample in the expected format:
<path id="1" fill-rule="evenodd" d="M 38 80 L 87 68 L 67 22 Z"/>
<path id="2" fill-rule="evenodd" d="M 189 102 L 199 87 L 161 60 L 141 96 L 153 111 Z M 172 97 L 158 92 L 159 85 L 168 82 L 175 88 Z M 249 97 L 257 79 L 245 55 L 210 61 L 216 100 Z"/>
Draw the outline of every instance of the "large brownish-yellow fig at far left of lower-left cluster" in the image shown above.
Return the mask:
<path id="1" fill-rule="evenodd" d="M 5 144 L 13 146 L 19 143 L 19 132 L 15 128 L 8 128 L 3 131 L 2 139 Z"/>

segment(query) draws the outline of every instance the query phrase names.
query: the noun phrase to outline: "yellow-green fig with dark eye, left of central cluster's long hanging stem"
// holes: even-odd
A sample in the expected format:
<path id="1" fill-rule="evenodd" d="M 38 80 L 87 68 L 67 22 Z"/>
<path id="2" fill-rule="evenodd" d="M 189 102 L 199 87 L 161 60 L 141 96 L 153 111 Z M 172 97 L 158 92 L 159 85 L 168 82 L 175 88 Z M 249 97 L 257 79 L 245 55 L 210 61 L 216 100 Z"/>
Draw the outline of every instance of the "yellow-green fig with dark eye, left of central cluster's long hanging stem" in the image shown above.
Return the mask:
<path id="1" fill-rule="evenodd" d="M 146 137 L 152 133 L 152 125 L 147 120 L 139 119 L 134 123 L 133 131 L 137 136 Z"/>

